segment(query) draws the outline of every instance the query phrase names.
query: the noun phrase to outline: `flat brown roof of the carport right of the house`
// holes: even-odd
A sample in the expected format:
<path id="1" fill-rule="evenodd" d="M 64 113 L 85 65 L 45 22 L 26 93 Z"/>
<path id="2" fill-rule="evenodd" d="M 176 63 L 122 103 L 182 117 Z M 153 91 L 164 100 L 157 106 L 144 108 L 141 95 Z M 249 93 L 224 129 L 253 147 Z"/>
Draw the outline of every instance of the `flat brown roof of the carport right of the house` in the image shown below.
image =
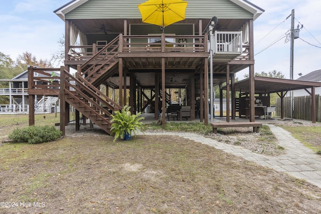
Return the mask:
<path id="1" fill-rule="evenodd" d="M 249 93 L 249 78 L 235 82 L 235 91 Z M 271 77 L 254 77 L 255 94 L 269 94 L 276 92 L 287 92 L 299 89 L 321 87 L 321 82 L 289 80 Z M 223 88 L 226 90 L 226 87 Z"/>

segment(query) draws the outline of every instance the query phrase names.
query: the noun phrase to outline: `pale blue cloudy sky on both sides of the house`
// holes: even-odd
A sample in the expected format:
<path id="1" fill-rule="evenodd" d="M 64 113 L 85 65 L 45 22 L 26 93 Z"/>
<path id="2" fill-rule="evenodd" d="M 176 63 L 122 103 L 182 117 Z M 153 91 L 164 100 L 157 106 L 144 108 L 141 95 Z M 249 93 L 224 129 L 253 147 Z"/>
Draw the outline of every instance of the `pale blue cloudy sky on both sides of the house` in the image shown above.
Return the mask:
<path id="1" fill-rule="evenodd" d="M 293 79 L 299 78 L 299 73 L 306 75 L 321 69 L 321 1 L 248 1 L 265 10 L 254 21 L 255 72 L 268 73 L 276 70 L 284 74 L 285 78 L 290 78 L 290 42 L 285 43 L 285 38 L 282 37 L 290 30 L 291 21 L 286 18 L 292 9 L 295 12 L 295 28 L 298 24 L 303 25 L 299 38 L 294 40 Z M 50 60 L 52 54 L 61 48 L 58 41 L 63 37 L 65 28 L 64 22 L 53 11 L 68 2 L 70 1 L 1 0 L 0 52 L 13 60 L 26 51 L 38 60 Z M 279 41 L 276 42 L 277 40 Z M 262 51 L 268 46 L 270 47 Z M 236 77 L 242 80 L 244 74 L 248 74 L 248 69 L 238 72 Z"/>

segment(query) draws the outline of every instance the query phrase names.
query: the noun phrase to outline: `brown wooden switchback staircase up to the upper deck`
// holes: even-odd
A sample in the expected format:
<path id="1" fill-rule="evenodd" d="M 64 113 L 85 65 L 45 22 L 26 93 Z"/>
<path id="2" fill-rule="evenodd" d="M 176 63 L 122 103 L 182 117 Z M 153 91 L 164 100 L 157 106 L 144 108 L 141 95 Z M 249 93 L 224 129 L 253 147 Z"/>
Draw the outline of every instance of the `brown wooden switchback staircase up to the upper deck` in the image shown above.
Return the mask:
<path id="1" fill-rule="evenodd" d="M 75 77 L 67 71 L 61 74 L 65 101 L 108 134 L 111 128 L 110 115 L 122 107 L 97 87 L 118 71 L 118 40 L 117 37 L 85 64 L 78 66 Z"/>

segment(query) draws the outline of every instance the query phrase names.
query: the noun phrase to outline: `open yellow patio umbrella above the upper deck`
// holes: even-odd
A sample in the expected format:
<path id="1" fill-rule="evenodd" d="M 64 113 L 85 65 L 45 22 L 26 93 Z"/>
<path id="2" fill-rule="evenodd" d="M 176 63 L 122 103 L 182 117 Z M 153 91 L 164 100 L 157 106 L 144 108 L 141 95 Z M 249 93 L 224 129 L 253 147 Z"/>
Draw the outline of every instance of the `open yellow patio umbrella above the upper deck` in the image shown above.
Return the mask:
<path id="1" fill-rule="evenodd" d="M 148 0 L 138 5 L 142 22 L 163 27 L 163 33 L 166 26 L 185 20 L 186 7 L 183 0 Z"/>

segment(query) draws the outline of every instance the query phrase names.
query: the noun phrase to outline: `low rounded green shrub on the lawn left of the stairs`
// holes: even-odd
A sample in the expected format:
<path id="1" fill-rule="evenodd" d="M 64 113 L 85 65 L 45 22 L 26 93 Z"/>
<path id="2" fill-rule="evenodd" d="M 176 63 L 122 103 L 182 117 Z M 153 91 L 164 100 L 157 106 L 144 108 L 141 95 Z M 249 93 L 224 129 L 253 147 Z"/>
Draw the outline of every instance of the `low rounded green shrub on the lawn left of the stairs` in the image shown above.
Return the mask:
<path id="1" fill-rule="evenodd" d="M 55 126 L 28 126 L 27 128 L 16 128 L 9 138 L 14 143 L 37 144 L 43 142 L 49 142 L 61 137 L 62 132 L 57 130 Z"/>

